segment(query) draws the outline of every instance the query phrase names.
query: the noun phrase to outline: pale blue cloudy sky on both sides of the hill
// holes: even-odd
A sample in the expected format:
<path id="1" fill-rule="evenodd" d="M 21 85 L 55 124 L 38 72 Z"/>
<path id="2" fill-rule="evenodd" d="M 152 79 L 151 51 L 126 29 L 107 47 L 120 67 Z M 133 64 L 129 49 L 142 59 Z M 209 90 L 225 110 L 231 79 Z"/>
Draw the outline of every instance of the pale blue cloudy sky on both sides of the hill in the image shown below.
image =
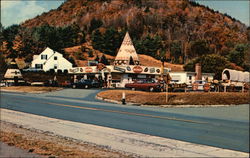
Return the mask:
<path id="1" fill-rule="evenodd" d="M 195 0 L 249 26 L 249 0 Z M 4 27 L 20 24 L 43 12 L 59 7 L 64 0 L 1 0 L 1 23 Z"/>

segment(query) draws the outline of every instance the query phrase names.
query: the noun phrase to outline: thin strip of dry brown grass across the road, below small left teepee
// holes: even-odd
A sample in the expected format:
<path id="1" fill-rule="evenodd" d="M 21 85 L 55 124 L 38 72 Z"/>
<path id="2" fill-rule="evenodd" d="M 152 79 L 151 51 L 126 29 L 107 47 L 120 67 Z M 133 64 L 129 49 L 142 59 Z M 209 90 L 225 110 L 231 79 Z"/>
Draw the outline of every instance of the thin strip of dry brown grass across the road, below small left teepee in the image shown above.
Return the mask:
<path id="1" fill-rule="evenodd" d="M 12 86 L 12 87 L 1 87 L 1 91 L 9 92 L 24 92 L 24 93 L 44 93 L 62 90 L 59 87 L 36 87 L 36 86 Z"/>

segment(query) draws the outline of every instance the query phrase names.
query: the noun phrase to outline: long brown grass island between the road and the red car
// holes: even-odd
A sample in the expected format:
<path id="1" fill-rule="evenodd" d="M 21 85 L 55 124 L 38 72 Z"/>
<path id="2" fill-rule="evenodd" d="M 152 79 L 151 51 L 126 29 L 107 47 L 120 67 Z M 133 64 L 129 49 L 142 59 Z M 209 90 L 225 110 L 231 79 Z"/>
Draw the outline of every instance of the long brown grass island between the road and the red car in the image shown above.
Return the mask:
<path id="1" fill-rule="evenodd" d="M 142 92 L 130 90 L 107 90 L 97 94 L 97 97 L 121 101 L 122 92 L 126 94 L 126 102 L 143 105 L 239 105 L 249 104 L 248 93 L 237 92 L 189 92 L 168 93 L 166 103 L 165 92 Z"/>

